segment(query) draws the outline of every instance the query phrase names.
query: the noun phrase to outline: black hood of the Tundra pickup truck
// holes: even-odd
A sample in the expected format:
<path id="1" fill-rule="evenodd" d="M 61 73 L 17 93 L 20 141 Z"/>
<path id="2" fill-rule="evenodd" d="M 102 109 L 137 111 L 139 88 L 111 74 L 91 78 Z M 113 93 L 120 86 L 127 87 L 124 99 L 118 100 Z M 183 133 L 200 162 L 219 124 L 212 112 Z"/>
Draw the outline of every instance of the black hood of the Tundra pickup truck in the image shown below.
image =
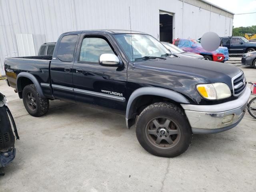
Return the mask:
<path id="1" fill-rule="evenodd" d="M 231 78 L 241 72 L 229 64 L 191 58 L 167 58 L 166 60 L 146 60 L 138 62 L 138 67 L 160 71 L 161 74 L 175 73 L 184 76 L 204 79 L 205 83 L 224 82 L 231 84 Z"/>

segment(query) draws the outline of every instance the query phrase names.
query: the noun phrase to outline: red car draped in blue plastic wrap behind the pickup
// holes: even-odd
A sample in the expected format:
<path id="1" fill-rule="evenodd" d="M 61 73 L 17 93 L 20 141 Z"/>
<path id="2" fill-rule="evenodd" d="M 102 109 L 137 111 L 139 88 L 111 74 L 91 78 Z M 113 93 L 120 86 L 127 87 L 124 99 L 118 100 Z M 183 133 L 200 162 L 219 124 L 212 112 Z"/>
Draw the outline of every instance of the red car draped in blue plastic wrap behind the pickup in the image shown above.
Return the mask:
<path id="1" fill-rule="evenodd" d="M 228 60 L 228 49 L 219 47 L 216 51 L 206 51 L 202 48 L 200 42 L 192 39 L 174 39 L 172 44 L 178 46 L 185 52 L 192 52 L 204 56 L 205 60 L 225 62 Z"/>

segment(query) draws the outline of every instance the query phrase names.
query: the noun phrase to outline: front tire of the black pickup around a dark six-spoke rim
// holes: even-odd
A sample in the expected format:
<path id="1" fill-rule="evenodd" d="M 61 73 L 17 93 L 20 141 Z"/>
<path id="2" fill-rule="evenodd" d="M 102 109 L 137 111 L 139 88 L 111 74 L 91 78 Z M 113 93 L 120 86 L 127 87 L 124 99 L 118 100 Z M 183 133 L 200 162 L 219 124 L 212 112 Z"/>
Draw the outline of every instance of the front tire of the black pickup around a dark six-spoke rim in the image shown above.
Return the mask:
<path id="1" fill-rule="evenodd" d="M 152 123 L 154 124 L 154 120 L 152 121 L 154 118 L 158 118 L 158 125 L 160 125 L 160 120 L 164 118 L 166 118 L 164 124 L 166 124 L 167 120 L 171 120 L 166 127 L 166 131 L 168 132 L 166 134 L 168 136 L 164 135 L 164 137 L 162 137 L 152 133 L 147 134 L 148 131 L 158 130 L 156 134 L 159 135 L 160 130 L 163 129 L 163 127 L 157 128 L 157 126 L 155 126 L 154 129 L 150 128 L 148 130 L 148 125 Z M 161 126 L 164 126 L 164 124 Z M 154 125 L 152 127 L 154 127 Z M 170 134 L 170 129 L 178 132 L 178 134 Z M 161 157 L 175 157 L 184 153 L 188 149 L 192 142 L 193 134 L 186 115 L 180 107 L 172 103 L 158 102 L 151 104 L 141 112 L 136 122 L 136 136 L 140 145 L 149 153 Z M 159 144 L 157 144 L 158 137 L 161 137 Z M 153 141 L 154 138 L 156 139 L 155 144 Z M 169 142 L 167 142 L 170 138 L 173 144 L 169 144 Z"/>

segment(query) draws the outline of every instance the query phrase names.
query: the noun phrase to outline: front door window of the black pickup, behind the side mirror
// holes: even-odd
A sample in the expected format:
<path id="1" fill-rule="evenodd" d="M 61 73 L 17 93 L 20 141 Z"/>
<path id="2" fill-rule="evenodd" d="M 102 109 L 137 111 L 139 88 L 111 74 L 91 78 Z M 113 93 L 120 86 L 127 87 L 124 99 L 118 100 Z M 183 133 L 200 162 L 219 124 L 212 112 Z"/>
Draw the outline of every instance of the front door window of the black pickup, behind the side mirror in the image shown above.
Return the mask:
<path id="1" fill-rule="evenodd" d="M 84 38 L 80 50 L 79 61 L 98 63 L 100 55 L 105 53 L 114 54 L 112 48 L 105 39 L 98 37 Z"/>

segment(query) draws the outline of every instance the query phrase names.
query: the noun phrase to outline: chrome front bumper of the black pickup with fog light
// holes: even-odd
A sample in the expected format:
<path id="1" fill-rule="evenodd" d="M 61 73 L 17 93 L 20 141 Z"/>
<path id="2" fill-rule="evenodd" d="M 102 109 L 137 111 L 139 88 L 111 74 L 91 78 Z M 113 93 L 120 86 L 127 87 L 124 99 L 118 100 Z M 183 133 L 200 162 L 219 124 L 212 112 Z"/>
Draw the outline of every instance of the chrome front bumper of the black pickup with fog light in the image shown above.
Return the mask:
<path id="1" fill-rule="evenodd" d="M 236 126 L 244 117 L 251 91 L 236 100 L 216 105 L 181 104 L 194 134 L 211 134 Z"/>

